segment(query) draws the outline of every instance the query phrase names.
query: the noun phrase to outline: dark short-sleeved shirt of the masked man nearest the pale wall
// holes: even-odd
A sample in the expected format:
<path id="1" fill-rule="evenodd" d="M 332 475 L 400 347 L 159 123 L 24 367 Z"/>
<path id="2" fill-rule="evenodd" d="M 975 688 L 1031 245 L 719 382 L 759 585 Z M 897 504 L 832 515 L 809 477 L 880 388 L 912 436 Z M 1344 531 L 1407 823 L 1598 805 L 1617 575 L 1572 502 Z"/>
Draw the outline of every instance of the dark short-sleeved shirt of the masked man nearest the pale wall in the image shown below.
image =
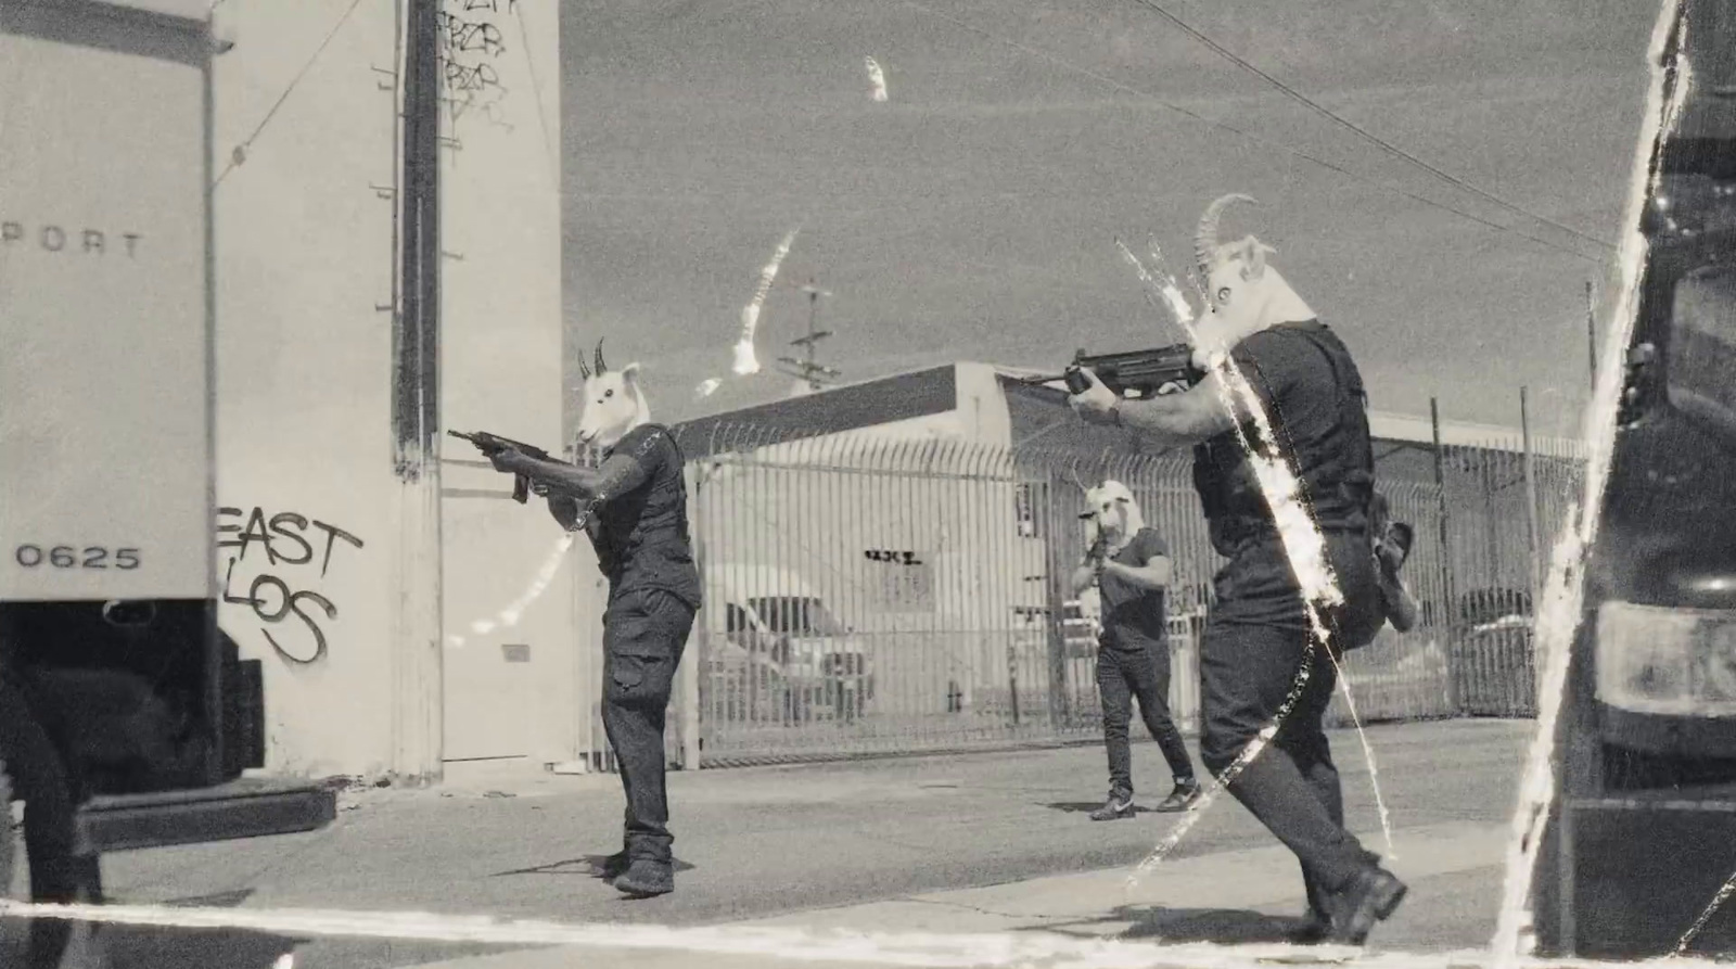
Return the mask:
<path id="1" fill-rule="evenodd" d="M 609 597 L 661 589 L 700 608 L 700 570 L 687 535 L 687 483 L 681 448 L 668 429 L 644 424 L 628 431 L 604 455 L 632 457 L 642 472 L 623 493 L 611 495 L 585 524 L 597 549 L 597 568 L 609 578 Z"/>

